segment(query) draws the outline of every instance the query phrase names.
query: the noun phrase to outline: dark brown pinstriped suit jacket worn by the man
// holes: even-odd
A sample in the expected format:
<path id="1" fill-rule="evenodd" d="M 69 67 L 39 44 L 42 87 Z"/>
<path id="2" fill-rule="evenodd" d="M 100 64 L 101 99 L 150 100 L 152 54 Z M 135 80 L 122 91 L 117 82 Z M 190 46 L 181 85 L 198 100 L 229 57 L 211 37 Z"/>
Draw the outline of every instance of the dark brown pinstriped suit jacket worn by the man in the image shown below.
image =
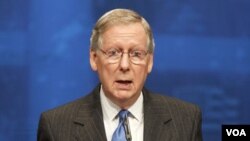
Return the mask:
<path id="1" fill-rule="evenodd" d="M 85 98 L 41 114 L 38 141 L 106 141 L 100 86 Z M 201 141 L 200 109 L 143 89 L 144 141 Z M 133 133 L 132 133 L 133 134 Z"/>

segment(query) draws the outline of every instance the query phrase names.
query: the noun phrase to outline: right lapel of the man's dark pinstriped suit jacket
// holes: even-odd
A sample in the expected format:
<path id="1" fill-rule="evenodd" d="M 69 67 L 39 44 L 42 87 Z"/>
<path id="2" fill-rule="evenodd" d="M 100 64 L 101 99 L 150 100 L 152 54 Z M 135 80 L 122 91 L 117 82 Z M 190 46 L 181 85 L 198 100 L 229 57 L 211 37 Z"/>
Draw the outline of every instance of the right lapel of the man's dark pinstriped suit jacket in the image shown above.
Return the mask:
<path id="1" fill-rule="evenodd" d="M 162 103 L 162 99 L 154 97 L 143 89 L 144 99 L 144 141 L 173 140 L 172 117 Z"/>

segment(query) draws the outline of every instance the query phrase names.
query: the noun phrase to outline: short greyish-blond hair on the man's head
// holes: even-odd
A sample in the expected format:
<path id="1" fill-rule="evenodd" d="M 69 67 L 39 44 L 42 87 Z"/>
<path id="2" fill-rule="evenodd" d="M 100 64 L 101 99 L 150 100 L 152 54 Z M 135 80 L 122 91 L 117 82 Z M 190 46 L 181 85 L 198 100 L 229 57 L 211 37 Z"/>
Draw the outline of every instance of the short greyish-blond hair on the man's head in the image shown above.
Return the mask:
<path id="1" fill-rule="evenodd" d="M 154 37 L 148 22 L 135 11 L 129 9 L 114 9 L 105 13 L 95 24 L 90 38 L 92 51 L 97 50 L 102 45 L 102 34 L 110 27 L 117 24 L 141 23 L 147 34 L 148 52 L 154 52 Z"/>

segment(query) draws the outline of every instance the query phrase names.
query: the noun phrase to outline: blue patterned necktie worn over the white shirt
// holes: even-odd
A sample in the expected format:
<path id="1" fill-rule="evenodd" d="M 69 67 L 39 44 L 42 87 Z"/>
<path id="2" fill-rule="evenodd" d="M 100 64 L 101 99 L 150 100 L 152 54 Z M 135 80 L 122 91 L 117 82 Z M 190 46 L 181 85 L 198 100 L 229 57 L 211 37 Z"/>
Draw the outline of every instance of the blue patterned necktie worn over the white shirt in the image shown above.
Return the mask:
<path id="1" fill-rule="evenodd" d="M 112 136 L 112 141 L 127 141 L 125 136 L 124 122 L 127 118 L 128 111 L 121 110 L 118 115 L 119 115 L 119 124 Z"/>

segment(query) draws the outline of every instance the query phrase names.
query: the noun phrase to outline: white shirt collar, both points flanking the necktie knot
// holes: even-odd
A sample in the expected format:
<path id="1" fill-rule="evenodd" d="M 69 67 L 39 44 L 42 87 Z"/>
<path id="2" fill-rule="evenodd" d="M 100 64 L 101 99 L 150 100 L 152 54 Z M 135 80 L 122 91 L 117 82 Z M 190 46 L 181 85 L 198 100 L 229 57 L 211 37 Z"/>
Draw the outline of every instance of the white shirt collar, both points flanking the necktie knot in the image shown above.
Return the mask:
<path id="1" fill-rule="evenodd" d="M 110 99 L 106 97 L 104 91 L 101 87 L 100 89 L 100 98 L 101 98 L 101 106 L 103 112 L 104 120 L 114 120 L 121 110 L 119 106 L 114 104 Z M 128 108 L 128 111 L 131 113 L 132 117 L 141 122 L 143 118 L 143 95 L 142 92 L 140 96 L 136 100 L 136 102 Z"/>

